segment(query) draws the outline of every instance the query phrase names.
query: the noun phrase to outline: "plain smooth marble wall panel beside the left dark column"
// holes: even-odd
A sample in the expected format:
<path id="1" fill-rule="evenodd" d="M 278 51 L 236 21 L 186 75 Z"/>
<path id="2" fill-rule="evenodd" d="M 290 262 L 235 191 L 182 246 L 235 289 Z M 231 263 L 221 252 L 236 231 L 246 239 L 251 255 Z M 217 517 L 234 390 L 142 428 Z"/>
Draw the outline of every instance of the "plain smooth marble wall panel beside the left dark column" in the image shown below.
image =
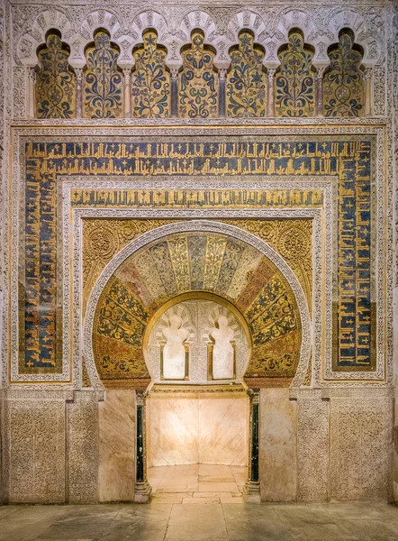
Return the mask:
<path id="1" fill-rule="evenodd" d="M 99 501 L 134 499 L 135 421 L 135 392 L 107 390 L 99 403 Z"/>

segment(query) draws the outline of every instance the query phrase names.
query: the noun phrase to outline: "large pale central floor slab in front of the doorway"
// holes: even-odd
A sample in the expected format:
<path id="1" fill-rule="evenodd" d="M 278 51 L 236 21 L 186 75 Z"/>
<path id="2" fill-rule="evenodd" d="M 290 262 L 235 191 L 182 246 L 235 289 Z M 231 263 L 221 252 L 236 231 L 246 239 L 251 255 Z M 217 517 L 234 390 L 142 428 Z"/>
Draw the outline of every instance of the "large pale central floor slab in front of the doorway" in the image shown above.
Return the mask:
<path id="1" fill-rule="evenodd" d="M 174 505 L 167 527 L 166 541 L 228 539 L 220 504 Z"/>

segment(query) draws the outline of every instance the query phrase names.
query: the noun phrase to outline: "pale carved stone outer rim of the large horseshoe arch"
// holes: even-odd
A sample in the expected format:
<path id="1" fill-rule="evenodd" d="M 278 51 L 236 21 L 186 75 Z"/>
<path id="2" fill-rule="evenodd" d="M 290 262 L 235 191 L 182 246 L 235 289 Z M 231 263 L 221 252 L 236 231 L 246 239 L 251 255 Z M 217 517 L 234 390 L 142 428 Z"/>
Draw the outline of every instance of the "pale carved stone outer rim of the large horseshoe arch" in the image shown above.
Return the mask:
<path id="1" fill-rule="evenodd" d="M 118 252 L 113 257 L 113 260 L 104 268 L 104 271 L 97 280 L 95 288 L 92 290 L 90 298 L 88 299 L 84 321 L 82 354 L 86 362 L 86 370 L 92 386 L 98 390 L 104 389 L 104 384 L 99 377 L 95 364 L 93 333 L 95 331 L 97 308 L 105 288 L 113 278 L 115 271 L 124 271 L 122 265 L 126 261 L 129 261 L 131 256 L 140 252 L 141 249 L 152 245 L 155 241 L 164 241 L 173 234 L 226 235 L 237 240 L 239 243 L 249 246 L 250 249 L 257 251 L 261 257 L 264 256 L 272 265 L 276 266 L 277 271 L 284 277 L 283 280 L 286 280 L 288 288 L 291 289 L 292 294 L 294 295 L 295 306 L 300 320 L 301 342 L 299 360 L 297 362 L 294 380 L 289 380 L 289 383 L 291 383 L 292 386 L 300 386 L 303 383 L 305 373 L 308 369 L 312 350 L 312 324 L 303 289 L 294 276 L 294 272 L 277 252 L 255 235 L 242 231 L 239 227 L 234 225 L 225 225 L 209 220 L 193 220 L 189 222 L 162 225 L 146 234 L 142 234 L 137 240 L 132 241 L 123 248 L 122 251 Z M 213 292 L 217 293 L 216 290 Z M 169 300 L 169 298 L 166 300 Z"/>

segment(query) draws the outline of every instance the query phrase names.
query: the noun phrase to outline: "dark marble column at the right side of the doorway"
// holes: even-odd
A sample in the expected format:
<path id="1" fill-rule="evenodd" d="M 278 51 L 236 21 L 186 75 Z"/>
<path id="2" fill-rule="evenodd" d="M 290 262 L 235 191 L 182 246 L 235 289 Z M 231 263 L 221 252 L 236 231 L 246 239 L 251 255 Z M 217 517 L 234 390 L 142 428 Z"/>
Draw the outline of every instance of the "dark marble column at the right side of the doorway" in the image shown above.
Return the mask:
<path id="1" fill-rule="evenodd" d="M 247 500 L 259 501 L 259 389 L 250 389 L 249 399 L 249 475 L 244 493 Z"/>

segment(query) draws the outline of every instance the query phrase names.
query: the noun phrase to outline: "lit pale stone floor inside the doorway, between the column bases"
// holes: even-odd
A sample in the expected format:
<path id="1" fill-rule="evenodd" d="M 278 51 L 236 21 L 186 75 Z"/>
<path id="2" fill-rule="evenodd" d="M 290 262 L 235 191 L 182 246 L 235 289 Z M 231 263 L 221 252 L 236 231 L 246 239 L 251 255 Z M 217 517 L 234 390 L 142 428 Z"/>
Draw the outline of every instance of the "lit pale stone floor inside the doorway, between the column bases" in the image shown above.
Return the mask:
<path id="1" fill-rule="evenodd" d="M 242 503 L 248 468 L 218 464 L 158 466 L 148 469 L 153 501 L 164 503 Z"/>

